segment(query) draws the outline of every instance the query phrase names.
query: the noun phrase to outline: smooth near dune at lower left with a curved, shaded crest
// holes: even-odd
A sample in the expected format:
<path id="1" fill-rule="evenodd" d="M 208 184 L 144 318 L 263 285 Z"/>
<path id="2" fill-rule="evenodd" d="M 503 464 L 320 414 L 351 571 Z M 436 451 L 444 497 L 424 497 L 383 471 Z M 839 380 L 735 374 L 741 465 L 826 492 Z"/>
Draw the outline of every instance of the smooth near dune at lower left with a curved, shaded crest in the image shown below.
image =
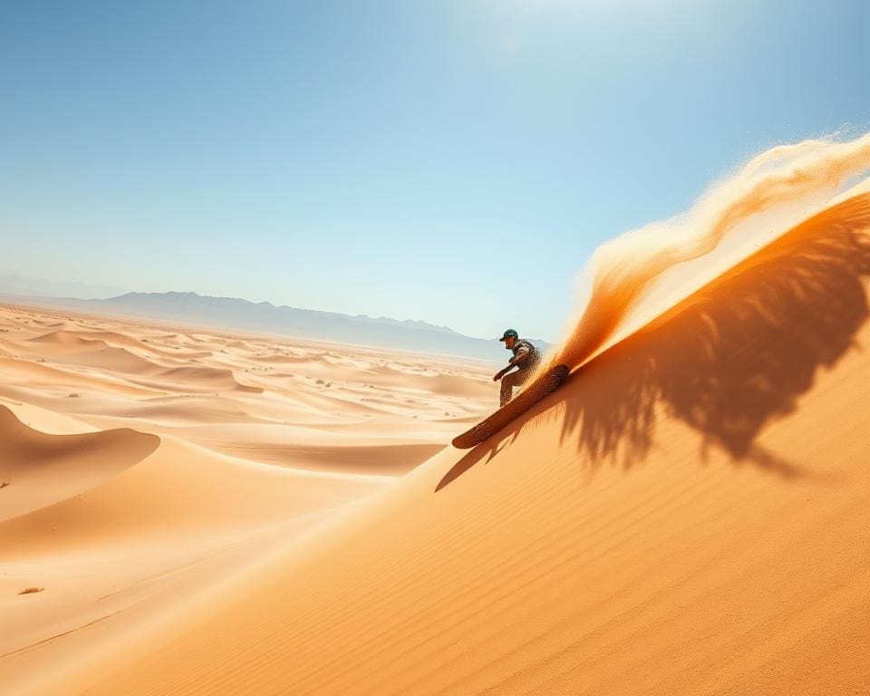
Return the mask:
<path id="1" fill-rule="evenodd" d="M 34 677 L 32 648 L 63 662 L 92 626 L 84 652 L 111 643 L 390 481 L 258 465 L 132 430 L 49 435 L 0 416 L 7 683 Z M 33 598 L 18 594 L 28 586 Z"/>

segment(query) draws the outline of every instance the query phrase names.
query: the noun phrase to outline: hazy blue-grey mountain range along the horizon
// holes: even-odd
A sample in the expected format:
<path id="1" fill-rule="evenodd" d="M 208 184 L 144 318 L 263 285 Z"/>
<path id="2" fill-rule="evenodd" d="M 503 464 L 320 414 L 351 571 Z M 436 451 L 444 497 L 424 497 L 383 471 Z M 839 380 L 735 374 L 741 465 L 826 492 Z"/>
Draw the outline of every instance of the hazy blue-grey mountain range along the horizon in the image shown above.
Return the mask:
<path id="1" fill-rule="evenodd" d="M 502 362 L 506 358 L 503 346 L 497 338 L 472 338 L 447 326 L 421 321 L 372 318 L 364 314 L 352 316 L 197 293 L 125 293 L 96 299 L 28 295 L 6 292 L 7 285 L 3 281 L 9 277 L 20 278 L 0 276 L 0 295 L 5 295 L 2 299 L 19 304 L 64 307 L 94 314 L 165 320 L 179 324 L 221 326 L 337 343 L 457 355 L 492 362 Z M 84 284 L 57 285 L 76 285 L 91 289 L 98 287 Z M 542 351 L 549 348 L 549 343 L 544 341 L 534 338 L 531 341 Z"/>

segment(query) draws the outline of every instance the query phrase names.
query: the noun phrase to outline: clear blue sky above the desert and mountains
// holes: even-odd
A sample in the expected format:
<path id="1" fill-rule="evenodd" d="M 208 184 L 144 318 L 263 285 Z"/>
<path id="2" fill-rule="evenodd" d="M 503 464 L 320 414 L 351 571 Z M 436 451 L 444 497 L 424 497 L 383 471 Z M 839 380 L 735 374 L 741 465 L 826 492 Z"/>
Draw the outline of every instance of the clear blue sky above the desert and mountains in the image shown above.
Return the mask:
<path id="1" fill-rule="evenodd" d="M 0 274 L 552 340 L 599 243 L 866 130 L 868 8 L 0 0 Z"/>

